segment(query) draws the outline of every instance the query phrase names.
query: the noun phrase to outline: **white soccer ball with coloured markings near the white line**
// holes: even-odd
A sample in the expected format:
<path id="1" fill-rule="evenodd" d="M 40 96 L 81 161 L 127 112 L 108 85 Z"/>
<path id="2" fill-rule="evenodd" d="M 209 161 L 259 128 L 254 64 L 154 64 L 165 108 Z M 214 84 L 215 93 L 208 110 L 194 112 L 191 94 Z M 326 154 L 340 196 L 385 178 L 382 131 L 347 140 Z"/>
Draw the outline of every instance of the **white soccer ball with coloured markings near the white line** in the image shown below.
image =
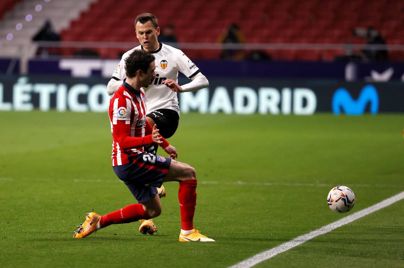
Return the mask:
<path id="1" fill-rule="evenodd" d="M 348 187 L 339 185 L 328 193 L 327 203 L 332 211 L 345 213 L 355 205 L 355 194 Z"/>

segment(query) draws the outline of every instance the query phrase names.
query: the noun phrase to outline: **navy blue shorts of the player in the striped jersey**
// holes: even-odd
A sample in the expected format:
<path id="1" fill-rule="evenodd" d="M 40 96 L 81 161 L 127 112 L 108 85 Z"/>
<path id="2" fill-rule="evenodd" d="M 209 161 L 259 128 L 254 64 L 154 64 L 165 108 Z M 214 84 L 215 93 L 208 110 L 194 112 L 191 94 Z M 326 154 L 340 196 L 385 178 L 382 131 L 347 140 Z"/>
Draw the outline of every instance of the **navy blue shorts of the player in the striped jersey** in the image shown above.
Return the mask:
<path id="1" fill-rule="evenodd" d="M 142 153 L 133 158 L 133 163 L 112 168 L 137 202 L 143 203 L 157 194 L 156 187 L 161 187 L 161 181 L 166 177 L 170 164 L 170 158 Z"/>

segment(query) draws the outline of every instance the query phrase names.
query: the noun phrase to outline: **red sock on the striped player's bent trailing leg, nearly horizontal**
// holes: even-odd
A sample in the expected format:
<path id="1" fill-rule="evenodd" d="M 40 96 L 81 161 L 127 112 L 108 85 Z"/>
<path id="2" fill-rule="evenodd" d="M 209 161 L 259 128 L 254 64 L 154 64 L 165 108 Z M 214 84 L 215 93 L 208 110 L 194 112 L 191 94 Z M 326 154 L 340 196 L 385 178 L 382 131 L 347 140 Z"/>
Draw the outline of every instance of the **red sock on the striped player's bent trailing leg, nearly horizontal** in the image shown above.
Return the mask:
<path id="1" fill-rule="evenodd" d="M 149 218 L 150 216 L 145 212 L 142 204 L 132 204 L 102 216 L 100 226 L 104 228 L 111 224 L 129 223 Z"/>

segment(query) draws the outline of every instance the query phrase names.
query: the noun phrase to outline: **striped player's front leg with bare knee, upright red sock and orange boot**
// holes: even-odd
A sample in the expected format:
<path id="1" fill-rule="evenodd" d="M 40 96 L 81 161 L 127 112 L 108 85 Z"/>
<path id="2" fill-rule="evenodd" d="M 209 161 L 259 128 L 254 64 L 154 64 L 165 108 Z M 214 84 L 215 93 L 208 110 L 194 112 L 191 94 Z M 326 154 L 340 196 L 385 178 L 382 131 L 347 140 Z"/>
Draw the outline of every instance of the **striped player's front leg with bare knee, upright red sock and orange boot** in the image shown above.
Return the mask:
<path id="1" fill-rule="evenodd" d="M 196 171 L 192 166 L 171 160 L 170 169 L 167 176 L 163 179 L 166 181 L 178 181 L 178 199 L 181 211 L 181 232 L 179 241 L 201 241 L 214 242 L 194 229 L 194 214 L 196 207 Z"/>

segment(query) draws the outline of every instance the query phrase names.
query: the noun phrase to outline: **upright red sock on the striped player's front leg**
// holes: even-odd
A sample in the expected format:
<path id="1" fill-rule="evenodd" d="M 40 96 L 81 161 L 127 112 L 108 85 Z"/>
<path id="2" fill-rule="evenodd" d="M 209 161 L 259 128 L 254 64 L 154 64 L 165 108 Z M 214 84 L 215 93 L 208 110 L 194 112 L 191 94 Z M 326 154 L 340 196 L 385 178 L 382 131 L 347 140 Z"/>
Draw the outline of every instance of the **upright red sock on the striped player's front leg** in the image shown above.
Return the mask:
<path id="1" fill-rule="evenodd" d="M 194 213 L 196 206 L 196 180 L 181 181 L 178 189 L 181 210 L 181 229 L 194 229 Z"/>

